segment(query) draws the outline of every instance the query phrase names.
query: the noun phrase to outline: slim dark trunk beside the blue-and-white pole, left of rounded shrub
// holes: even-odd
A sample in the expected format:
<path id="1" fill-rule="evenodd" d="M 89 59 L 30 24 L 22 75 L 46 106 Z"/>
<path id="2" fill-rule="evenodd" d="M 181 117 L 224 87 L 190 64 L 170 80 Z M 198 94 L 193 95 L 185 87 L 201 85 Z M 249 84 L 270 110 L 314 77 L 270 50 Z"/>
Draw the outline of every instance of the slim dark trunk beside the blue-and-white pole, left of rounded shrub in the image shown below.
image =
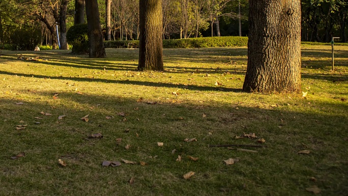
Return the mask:
<path id="1" fill-rule="evenodd" d="M 67 43 L 67 25 L 66 25 L 66 16 L 67 16 L 67 8 L 68 8 L 68 0 L 63 0 L 60 8 L 60 14 L 59 14 L 59 26 L 61 29 L 61 48 L 62 50 L 69 49 L 68 43 Z"/>

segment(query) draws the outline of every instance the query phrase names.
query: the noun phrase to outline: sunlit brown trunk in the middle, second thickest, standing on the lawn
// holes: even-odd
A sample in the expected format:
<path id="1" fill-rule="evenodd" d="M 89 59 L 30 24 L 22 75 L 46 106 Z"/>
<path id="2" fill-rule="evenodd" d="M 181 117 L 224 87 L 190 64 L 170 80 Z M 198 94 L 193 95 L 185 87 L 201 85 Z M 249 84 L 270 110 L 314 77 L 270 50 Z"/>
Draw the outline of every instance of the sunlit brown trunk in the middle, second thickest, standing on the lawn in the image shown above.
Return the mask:
<path id="1" fill-rule="evenodd" d="M 162 0 L 140 0 L 138 70 L 163 70 Z"/>

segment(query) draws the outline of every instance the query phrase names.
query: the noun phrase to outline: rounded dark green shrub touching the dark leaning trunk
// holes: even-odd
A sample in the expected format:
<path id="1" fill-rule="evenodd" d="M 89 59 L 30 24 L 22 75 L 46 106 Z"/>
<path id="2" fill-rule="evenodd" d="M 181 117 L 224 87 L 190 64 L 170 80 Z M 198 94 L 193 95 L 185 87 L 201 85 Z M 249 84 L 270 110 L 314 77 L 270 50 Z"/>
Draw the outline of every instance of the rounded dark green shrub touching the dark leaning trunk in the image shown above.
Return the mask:
<path id="1" fill-rule="evenodd" d="M 73 54 L 85 54 L 89 51 L 88 26 L 86 23 L 75 24 L 67 32 L 67 41 L 72 44 Z"/>

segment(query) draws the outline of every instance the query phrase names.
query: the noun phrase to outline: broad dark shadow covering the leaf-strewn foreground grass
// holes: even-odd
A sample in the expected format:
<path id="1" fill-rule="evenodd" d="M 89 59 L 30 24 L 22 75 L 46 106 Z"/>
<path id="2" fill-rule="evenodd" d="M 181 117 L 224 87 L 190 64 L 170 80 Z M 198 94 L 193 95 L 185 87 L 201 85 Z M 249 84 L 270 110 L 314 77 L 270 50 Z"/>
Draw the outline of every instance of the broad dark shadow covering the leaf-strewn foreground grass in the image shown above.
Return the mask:
<path id="1" fill-rule="evenodd" d="M 25 89 L 23 92 L 26 92 Z M 55 92 L 39 93 L 52 96 Z M 182 187 L 192 192 L 204 191 L 207 195 L 221 193 L 221 188 L 227 190 L 226 195 L 250 192 L 265 192 L 266 195 L 271 187 L 273 193 L 279 195 L 301 195 L 305 194 L 305 187 L 312 186 L 309 178 L 315 176 L 320 179 L 316 184 L 324 195 L 344 195 L 348 192 L 345 178 L 348 175 L 345 169 L 347 149 L 344 148 L 346 142 L 342 138 L 346 134 L 343 129 L 348 123 L 346 116 L 294 111 L 287 106 L 273 109 L 239 106 L 236 110 L 230 105 L 214 101 L 211 101 L 210 106 L 197 108 L 201 105 L 152 105 L 130 98 L 68 92 L 61 93 L 59 97 L 62 102 L 56 99 L 56 102 L 51 101 L 49 104 L 33 100 L 16 105 L 15 100 L 0 100 L 0 115 L 7 120 L 0 122 L 3 127 L 0 132 L 6 138 L 0 146 L 3 161 L 0 171 L 4 174 L 4 189 L 23 195 L 32 191 L 50 194 L 57 192 L 55 187 L 65 187 L 66 176 L 69 176 L 69 186 L 80 187 L 69 192 L 71 194 L 100 194 L 100 187 L 106 191 L 104 193 L 112 194 L 115 186 L 118 192 L 124 193 L 129 191 L 129 185 L 127 180 L 120 179 L 135 175 L 137 186 L 133 188 L 138 193 L 172 191 L 184 194 L 173 188 Z M 72 105 L 75 103 L 81 103 L 82 106 L 74 108 Z M 341 104 L 316 104 L 333 107 L 341 112 L 347 110 Z M 133 109 L 135 107 L 137 110 Z M 52 116 L 34 119 L 41 110 L 49 111 Z M 117 115 L 120 111 L 125 111 L 127 121 Z M 201 118 L 202 113 L 207 117 Z M 67 116 L 57 120 L 63 114 Z M 81 121 L 80 118 L 86 114 L 90 115 L 90 121 Z M 107 115 L 114 118 L 105 120 Z M 19 120 L 30 124 L 23 130 L 14 130 Z M 41 123 L 35 124 L 33 120 Z M 101 132 L 104 137 L 84 139 L 95 132 Z M 258 153 L 246 153 L 208 147 L 212 144 L 255 145 L 255 139 L 234 139 L 243 132 L 254 132 L 265 138 L 267 142 L 264 145 L 268 148 L 256 149 Z M 130 143 L 132 148 L 125 150 L 123 146 L 115 144 L 115 139 L 120 137 L 123 138 L 122 145 Z M 197 142 L 185 143 L 183 139 L 187 137 L 196 137 Z M 162 148 L 157 147 L 159 141 L 164 142 Z M 177 154 L 172 155 L 172 149 L 177 149 Z M 310 149 L 311 153 L 297 154 L 303 149 Z M 14 152 L 22 151 L 27 153 L 25 158 L 19 161 L 10 159 Z M 183 164 L 175 161 L 178 153 L 183 155 Z M 102 160 L 128 157 L 129 160 L 137 161 L 150 155 L 158 155 L 158 158 L 146 159 L 149 162 L 146 169 L 140 165 L 123 165 L 114 175 L 112 172 L 115 170 L 110 172 L 109 168 L 101 166 Z M 199 160 L 190 162 L 184 155 L 199 156 Z M 62 157 L 68 162 L 64 169 L 56 163 L 57 158 Z M 229 166 L 222 164 L 222 160 L 229 157 L 238 157 L 240 162 Z M 140 173 L 142 170 L 145 173 Z M 195 171 L 196 179 L 183 180 L 182 174 L 186 170 Z M 169 171 L 170 175 L 165 171 Z M 45 173 L 44 178 L 42 173 Z M 230 177 L 231 173 L 234 178 Z M 156 183 L 153 178 L 157 175 L 163 179 L 160 179 L 160 186 L 154 190 L 153 184 Z M 47 176 L 49 179 L 45 179 Z M 27 179 L 30 179 L 29 182 Z M 110 181 L 115 182 L 110 184 Z M 13 186 L 14 183 L 16 186 Z M 199 186 L 196 186 L 197 183 Z M 283 188 L 298 187 L 299 184 L 302 188 Z M 247 190 L 240 188 L 245 186 Z"/>

